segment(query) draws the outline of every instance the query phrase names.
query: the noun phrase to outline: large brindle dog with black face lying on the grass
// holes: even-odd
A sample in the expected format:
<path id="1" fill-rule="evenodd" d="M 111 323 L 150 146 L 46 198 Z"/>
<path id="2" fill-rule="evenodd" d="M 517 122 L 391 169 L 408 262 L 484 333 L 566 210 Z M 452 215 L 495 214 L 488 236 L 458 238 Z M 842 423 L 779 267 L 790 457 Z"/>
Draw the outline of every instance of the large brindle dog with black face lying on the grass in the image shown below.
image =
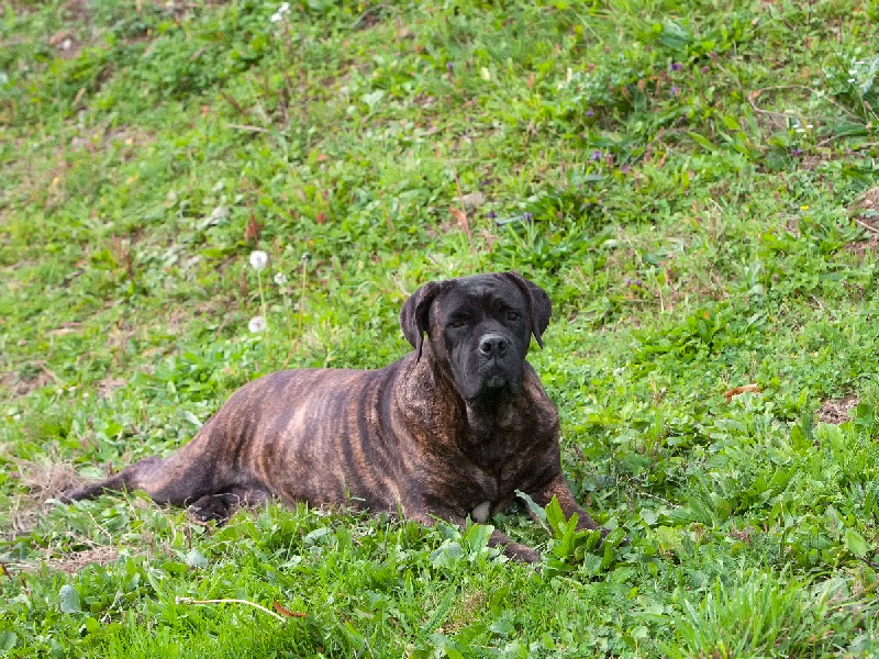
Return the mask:
<path id="1" fill-rule="evenodd" d="M 579 528 L 598 528 L 565 482 L 558 413 L 525 361 L 532 334 L 543 346 L 550 313 L 546 292 L 518 272 L 430 282 L 400 313 L 414 353 L 379 370 L 259 378 L 167 458 L 64 500 L 140 489 L 223 520 L 235 503 L 279 496 L 463 525 L 468 515 L 485 522 L 522 490 L 539 505 L 555 495 Z M 499 530 L 490 543 L 514 559 L 539 558 Z"/>

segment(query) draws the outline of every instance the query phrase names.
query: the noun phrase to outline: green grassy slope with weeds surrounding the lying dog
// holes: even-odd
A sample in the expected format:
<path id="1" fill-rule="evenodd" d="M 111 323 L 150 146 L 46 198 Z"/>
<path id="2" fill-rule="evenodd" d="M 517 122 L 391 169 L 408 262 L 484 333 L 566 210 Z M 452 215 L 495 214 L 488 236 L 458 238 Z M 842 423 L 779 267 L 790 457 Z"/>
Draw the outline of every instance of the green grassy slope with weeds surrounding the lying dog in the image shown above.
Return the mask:
<path id="1" fill-rule="evenodd" d="M 879 654 L 876 3 L 277 9 L 0 10 L 0 656 Z M 536 571 L 482 526 L 52 500 L 262 373 L 388 364 L 419 284 L 509 268 L 627 545 L 493 520 Z"/>

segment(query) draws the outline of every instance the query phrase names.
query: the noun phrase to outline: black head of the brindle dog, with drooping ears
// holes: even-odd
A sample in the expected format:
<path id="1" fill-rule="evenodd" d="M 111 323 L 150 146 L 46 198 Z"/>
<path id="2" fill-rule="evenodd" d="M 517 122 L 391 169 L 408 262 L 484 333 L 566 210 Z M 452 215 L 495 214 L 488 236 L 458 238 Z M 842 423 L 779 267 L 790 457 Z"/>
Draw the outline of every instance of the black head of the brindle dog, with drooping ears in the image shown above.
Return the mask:
<path id="1" fill-rule="evenodd" d="M 543 347 L 552 311 L 546 291 L 519 272 L 474 275 L 421 287 L 403 304 L 400 325 L 419 359 L 427 334 L 432 358 L 474 402 L 521 391 L 531 335 Z"/>

